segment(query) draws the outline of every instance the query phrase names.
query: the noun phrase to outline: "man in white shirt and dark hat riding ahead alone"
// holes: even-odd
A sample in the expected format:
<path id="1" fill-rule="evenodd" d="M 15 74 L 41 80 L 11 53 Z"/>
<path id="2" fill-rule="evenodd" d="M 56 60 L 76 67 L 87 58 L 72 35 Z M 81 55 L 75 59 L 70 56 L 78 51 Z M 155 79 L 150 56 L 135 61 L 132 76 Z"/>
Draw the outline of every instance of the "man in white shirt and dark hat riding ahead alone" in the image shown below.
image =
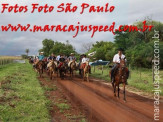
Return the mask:
<path id="1" fill-rule="evenodd" d="M 122 54 L 122 52 L 123 52 L 123 49 L 122 48 L 119 48 L 118 49 L 118 53 L 115 54 L 114 55 L 114 58 L 113 58 L 114 65 L 113 65 L 113 67 L 111 69 L 111 81 L 112 81 L 112 84 L 115 81 L 114 76 L 115 76 L 116 71 L 118 70 L 120 60 L 121 59 L 125 59 L 125 61 L 127 61 L 125 55 Z M 127 79 L 128 79 L 128 76 L 129 76 L 129 71 L 127 69 Z"/>

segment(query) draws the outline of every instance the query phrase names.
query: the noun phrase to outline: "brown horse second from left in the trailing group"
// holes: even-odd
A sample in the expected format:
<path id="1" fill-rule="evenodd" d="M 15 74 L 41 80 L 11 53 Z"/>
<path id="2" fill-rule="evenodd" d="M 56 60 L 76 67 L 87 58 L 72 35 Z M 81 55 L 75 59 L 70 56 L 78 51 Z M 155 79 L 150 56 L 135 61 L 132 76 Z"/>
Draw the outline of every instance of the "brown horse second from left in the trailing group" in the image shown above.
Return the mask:
<path id="1" fill-rule="evenodd" d="M 51 64 L 48 67 L 48 72 L 49 72 L 49 75 L 50 75 L 50 79 L 52 80 L 53 79 L 53 74 L 56 72 L 57 65 L 55 64 L 54 61 L 51 61 L 50 63 Z"/>

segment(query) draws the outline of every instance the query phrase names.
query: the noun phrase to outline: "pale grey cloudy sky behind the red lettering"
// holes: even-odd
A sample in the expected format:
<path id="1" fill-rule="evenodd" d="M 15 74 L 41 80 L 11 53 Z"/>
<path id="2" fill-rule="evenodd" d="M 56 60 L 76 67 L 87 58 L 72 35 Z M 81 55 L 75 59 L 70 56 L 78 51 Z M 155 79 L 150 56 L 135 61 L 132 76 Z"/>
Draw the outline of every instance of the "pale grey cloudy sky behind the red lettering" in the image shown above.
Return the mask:
<path id="1" fill-rule="evenodd" d="M 83 25 L 111 25 L 112 22 L 118 25 L 133 24 L 136 21 L 144 20 L 149 16 L 153 20 L 163 22 L 163 0 L 1 0 L 0 11 L 2 5 L 18 4 L 19 6 L 27 5 L 26 13 L 0 13 L 0 26 L 2 25 L 77 25 L 80 22 Z M 31 4 L 52 5 L 54 12 L 51 13 L 30 13 Z M 75 13 L 57 13 L 56 8 L 61 3 L 72 3 L 77 5 L 78 10 Z M 80 14 L 81 4 L 88 3 L 95 6 L 105 6 L 106 3 L 115 6 L 112 13 L 89 13 L 89 9 L 85 9 Z M 30 50 L 30 55 L 36 55 L 38 50 L 42 48 L 42 40 L 45 38 L 59 42 L 69 42 L 75 47 L 77 52 L 82 52 L 82 44 L 95 43 L 96 41 L 114 41 L 114 35 L 111 32 L 95 33 L 91 38 L 91 33 L 82 32 L 73 38 L 74 32 L 2 32 L 0 30 L 0 55 L 21 55 L 25 54 L 25 49 Z"/>

